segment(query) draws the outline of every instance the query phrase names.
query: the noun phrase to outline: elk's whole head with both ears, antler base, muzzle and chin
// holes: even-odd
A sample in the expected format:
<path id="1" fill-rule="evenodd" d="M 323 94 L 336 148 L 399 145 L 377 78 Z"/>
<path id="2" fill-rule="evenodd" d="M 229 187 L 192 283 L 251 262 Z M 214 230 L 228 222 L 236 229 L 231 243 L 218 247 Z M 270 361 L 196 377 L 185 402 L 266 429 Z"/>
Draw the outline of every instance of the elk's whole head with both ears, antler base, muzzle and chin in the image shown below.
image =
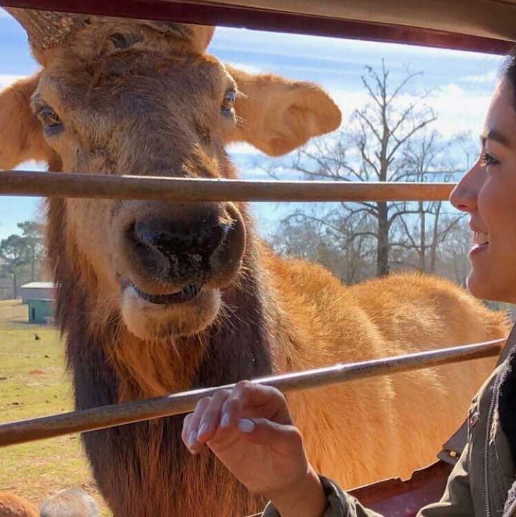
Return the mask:
<path id="1" fill-rule="evenodd" d="M 43 70 L 0 94 L 0 168 L 37 158 L 92 174 L 234 178 L 227 143 L 277 156 L 340 124 L 316 85 L 206 54 L 213 28 L 10 12 Z M 244 205 L 63 203 L 51 231 L 64 235 L 67 260 L 88 275 L 104 314 L 150 340 L 214 321 L 245 255 Z"/>

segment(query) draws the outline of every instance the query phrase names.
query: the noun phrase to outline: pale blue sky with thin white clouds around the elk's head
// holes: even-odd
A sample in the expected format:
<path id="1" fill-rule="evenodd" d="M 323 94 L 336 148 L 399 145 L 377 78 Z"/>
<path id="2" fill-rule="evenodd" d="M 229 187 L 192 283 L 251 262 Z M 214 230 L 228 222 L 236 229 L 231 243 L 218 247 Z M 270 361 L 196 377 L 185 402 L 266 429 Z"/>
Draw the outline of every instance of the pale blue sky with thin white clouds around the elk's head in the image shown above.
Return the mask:
<path id="1" fill-rule="evenodd" d="M 340 105 L 344 124 L 364 103 L 360 76 L 365 65 L 379 66 L 385 59 L 393 83 L 404 78 L 408 66 L 423 72 L 413 88 L 431 90 L 427 103 L 439 116 L 435 129 L 447 137 L 479 133 L 502 62 L 500 57 L 471 52 L 230 28 L 218 28 L 209 52 L 249 72 L 275 72 L 322 85 Z M 1 8 L 0 56 L 0 89 L 37 70 L 25 33 Z M 242 176 L 264 177 L 251 165 L 260 153 L 249 145 L 235 145 L 231 154 Z M 23 165 L 29 167 L 34 164 Z M 40 205 L 38 199 L 0 196 L 0 239 L 17 232 L 17 222 L 34 219 Z M 260 228 L 267 232 L 285 205 L 262 204 L 254 210 Z"/>

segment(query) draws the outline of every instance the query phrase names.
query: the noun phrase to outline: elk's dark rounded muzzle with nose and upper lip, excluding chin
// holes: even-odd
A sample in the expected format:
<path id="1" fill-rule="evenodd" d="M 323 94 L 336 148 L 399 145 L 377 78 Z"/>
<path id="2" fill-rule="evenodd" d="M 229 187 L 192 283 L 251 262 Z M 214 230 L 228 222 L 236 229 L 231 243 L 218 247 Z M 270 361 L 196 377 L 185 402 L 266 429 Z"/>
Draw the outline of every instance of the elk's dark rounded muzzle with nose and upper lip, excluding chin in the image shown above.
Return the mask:
<path id="1" fill-rule="evenodd" d="M 149 303 L 171 305 L 234 280 L 245 226 L 231 203 L 150 205 L 125 222 L 122 248 L 124 287 Z"/>

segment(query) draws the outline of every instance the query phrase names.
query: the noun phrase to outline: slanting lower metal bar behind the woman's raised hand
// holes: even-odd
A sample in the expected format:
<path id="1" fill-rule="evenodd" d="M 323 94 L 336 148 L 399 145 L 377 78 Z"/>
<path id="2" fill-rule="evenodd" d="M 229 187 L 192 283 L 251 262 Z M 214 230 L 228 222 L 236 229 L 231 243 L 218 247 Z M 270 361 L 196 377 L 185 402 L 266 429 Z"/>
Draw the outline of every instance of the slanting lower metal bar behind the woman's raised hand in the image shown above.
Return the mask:
<path id="1" fill-rule="evenodd" d="M 505 339 L 487 341 L 475 345 L 431 350 L 404 356 L 362 361 L 360 363 L 339 364 L 327 368 L 309 370 L 255 379 L 253 382 L 275 386 L 282 392 L 309 389 L 335 383 L 345 383 L 356 379 L 369 378 L 397 372 L 409 372 L 425 367 L 460 363 L 472 359 L 496 356 Z M 144 401 L 127 402 L 62 413 L 32 420 L 0 425 L 0 447 L 25 443 L 64 434 L 90 432 L 125 425 L 142 420 L 152 420 L 191 412 L 197 401 L 211 396 L 220 389 L 229 389 L 234 384 L 195 389 L 190 392 L 149 398 Z"/>

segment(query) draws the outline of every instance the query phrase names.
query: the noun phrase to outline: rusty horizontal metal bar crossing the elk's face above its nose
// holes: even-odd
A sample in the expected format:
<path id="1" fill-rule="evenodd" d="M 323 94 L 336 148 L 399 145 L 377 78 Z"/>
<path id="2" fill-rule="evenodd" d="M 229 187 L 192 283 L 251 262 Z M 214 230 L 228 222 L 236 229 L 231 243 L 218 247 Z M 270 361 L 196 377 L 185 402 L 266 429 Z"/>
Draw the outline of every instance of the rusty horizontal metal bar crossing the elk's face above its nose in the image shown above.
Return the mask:
<path id="1" fill-rule="evenodd" d="M 453 183 L 245 181 L 0 171 L 0 196 L 161 201 L 446 201 Z"/>

